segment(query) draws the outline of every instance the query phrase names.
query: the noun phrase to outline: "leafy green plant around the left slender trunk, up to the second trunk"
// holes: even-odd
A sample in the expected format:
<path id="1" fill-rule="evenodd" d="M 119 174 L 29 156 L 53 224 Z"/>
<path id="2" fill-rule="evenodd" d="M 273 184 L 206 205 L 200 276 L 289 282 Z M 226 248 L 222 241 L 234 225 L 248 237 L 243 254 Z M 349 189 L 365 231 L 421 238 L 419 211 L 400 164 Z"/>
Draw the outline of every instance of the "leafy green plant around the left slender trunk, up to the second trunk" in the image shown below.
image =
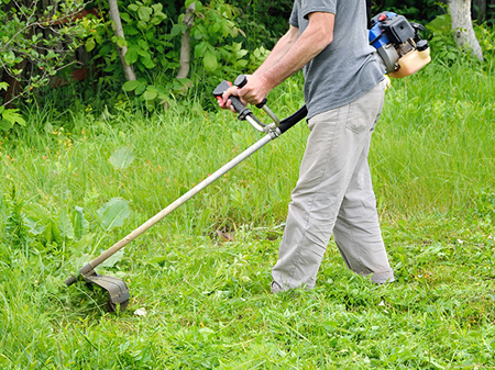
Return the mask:
<path id="1" fill-rule="evenodd" d="M 103 2 L 101 7 L 107 4 Z M 166 23 L 168 16 L 162 3 L 151 0 L 124 2 L 120 14 L 125 41 L 116 38 L 111 21 L 107 20 L 87 40 L 86 49 L 95 53 L 96 68 L 105 72 L 100 83 L 112 86 L 117 81 L 120 89 L 124 78 L 116 43 L 127 46 L 125 61 L 133 66 L 139 78 L 123 83 L 122 89 L 135 93 L 147 103 L 146 106 L 153 109 L 155 101 L 161 102 L 169 97 L 170 86 L 163 82 L 172 81 L 177 64 L 175 58 L 178 52 L 173 44 L 173 35 L 168 33 L 170 26 Z M 156 83 L 158 76 L 167 75 L 165 81 Z"/>

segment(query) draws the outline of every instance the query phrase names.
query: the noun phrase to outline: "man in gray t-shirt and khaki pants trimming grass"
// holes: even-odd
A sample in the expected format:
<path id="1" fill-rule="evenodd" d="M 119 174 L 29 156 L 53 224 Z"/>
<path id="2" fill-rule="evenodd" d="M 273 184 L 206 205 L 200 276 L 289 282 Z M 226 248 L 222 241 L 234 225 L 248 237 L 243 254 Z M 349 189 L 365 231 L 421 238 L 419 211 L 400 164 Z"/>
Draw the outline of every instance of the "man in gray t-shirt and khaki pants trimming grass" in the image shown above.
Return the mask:
<path id="1" fill-rule="evenodd" d="M 300 68 L 310 134 L 272 291 L 312 289 L 332 232 L 350 269 L 375 283 L 394 281 L 367 165 L 385 81 L 367 41 L 365 0 L 296 0 L 288 32 L 220 106 L 232 109 L 230 96 L 260 103 Z"/>

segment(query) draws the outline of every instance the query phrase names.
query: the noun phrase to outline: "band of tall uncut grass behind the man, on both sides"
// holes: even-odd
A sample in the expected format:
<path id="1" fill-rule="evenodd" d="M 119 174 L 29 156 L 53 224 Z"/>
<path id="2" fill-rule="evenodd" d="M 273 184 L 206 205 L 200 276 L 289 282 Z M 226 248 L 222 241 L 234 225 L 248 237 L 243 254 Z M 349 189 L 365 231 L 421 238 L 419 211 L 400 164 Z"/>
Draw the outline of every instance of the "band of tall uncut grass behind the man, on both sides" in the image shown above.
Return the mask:
<path id="1" fill-rule="evenodd" d="M 483 74 L 464 65 L 436 65 L 393 81 L 370 158 L 384 212 L 459 210 L 480 191 L 490 191 L 494 79 L 493 68 Z M 280 115 L 302 104 L 299 82 L 272 93 Z M 172 215 L 172 223 L 179 228 L 185 224 L 190 233 L 221 224 L 283 222 L 307 133 L 301 123 L 271 143 Z M 1 192 L 14 183 L 48 208 L 77 204 L 88 212 L 118 195 L 132 200 L 136 218 L 144 220 L 260 137 L 231 113 L 204 112 L 194 102 L 150 119 L 122 109 L 101 116 L 67 112 L 56 117 L 50 106 L 36 108 L 30 130 L 2 145 L 0 176 L 7 181 Z M 121 147 L 135 159 L 116 170 L 108 158 Z"/>

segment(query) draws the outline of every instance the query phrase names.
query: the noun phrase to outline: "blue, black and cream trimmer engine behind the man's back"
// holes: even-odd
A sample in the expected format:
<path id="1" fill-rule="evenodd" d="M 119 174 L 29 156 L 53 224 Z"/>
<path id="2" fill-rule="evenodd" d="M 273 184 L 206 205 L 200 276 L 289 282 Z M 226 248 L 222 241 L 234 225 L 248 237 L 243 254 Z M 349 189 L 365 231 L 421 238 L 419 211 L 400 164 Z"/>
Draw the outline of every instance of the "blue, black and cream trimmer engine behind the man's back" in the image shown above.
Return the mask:
<path id="1" fill-rule="evenodd" d="M 370 45 L 373 45 L 391 77 L 409 76 L 430 63 L 430 48 L 419 36 L 421 24 L 409 22 L 404 15 L 383 12 L 371 21 Z"/>

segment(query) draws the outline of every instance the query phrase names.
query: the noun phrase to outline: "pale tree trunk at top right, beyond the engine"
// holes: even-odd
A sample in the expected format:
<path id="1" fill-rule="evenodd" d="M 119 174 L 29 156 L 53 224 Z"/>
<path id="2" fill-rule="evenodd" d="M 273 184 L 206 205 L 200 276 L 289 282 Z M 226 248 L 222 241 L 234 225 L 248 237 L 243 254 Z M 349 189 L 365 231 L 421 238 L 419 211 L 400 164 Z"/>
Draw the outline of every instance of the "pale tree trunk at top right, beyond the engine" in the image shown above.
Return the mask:
<path id="1" fill-rule="evenodd" d="M 449 10 L 452 15 L 455 43 L 470 48 L 480 60 L 483 60 L 483 52 L 471 22 L 471 0 L 449 0 Z"/>

